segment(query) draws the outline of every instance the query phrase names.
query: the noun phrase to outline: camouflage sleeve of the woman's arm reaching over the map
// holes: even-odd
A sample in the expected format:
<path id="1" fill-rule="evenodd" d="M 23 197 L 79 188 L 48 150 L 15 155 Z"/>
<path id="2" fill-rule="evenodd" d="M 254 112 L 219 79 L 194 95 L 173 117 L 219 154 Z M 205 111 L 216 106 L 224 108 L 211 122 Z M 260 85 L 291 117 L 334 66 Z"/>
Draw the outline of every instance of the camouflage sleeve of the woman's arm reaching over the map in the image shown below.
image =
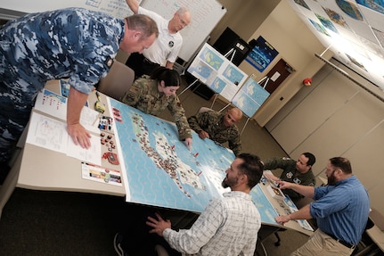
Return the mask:
<path id="1" fill-rule="evenodd" d="M 192 137 L 192 130 L 188 124 L 187 118 L 185 117 L 184 108 L 176 95 L 174 95 L 174 100 L 168 104 L 167 108 L 174 117 L 179 133 L 179 139 L 184 140 L 187 137 Z"/>

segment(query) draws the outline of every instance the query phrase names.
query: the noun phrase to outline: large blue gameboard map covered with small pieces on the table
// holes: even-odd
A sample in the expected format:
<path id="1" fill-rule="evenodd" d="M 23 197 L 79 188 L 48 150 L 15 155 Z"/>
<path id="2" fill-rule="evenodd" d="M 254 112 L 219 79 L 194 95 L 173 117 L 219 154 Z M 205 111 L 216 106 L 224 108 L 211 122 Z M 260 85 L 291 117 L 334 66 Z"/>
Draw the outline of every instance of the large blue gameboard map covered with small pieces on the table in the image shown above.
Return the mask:
<path id="1" fill-rule="evenodd" d="M 209 201 L 221 197 L 221 186 L 234 160 L 232 151 L 193 134 L 191 151 L 179 141 L 174 123 L 145 114 L 109 99 L 115 117 L 127 176 L 127 202 L 201 212 Z M 251 192 L 265 223 L 274 223 L 277 213 L 260 187 Z"/>

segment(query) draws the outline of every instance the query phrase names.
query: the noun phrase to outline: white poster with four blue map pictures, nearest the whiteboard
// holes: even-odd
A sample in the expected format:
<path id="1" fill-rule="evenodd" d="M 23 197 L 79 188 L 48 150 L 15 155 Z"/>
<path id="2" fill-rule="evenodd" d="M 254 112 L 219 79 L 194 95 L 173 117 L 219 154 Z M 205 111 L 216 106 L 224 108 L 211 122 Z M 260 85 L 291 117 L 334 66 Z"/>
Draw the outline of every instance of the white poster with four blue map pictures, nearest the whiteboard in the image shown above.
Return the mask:
<path id="1" fill-rule="evenodd" d="M 201 47 L 188 72 L 229 102 L 248 78 L 246 73 L 208 44 Z"/>

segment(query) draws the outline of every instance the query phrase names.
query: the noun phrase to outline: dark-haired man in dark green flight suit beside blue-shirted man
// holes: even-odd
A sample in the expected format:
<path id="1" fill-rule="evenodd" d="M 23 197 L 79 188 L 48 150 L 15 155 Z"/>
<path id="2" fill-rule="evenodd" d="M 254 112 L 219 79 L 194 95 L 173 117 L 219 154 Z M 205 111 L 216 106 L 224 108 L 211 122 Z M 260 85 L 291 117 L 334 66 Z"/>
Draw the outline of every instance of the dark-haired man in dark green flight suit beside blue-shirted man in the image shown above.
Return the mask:
<path id="1" fill-rule="evenodd" d="M 315 155 L 312 153 L 302 153 L 298 161 L 288 157 L 274 157 L 264 161 L 264 169 L 282 169 L 280 178 L 274 175 L 265 174 L 266 178 L 288 181 L 304 186 L 315 186 L 315 175 L 312 166 L 315 164 Z M 292 189 L 282 189 L 282 193 L 288 194 L 293 202 L 298 202 L 304 195 L 298 194 Z"/>

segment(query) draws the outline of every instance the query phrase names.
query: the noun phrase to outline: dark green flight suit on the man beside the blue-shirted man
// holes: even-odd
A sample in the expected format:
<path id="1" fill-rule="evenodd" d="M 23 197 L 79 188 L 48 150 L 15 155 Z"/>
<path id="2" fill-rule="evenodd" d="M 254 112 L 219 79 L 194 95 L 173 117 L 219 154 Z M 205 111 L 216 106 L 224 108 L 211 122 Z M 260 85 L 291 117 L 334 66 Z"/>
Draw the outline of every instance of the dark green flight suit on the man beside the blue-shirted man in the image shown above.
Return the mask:
<path id="1" fill-rule="evenodd" d="M 264 161 L 264 169 L 282 169 L 281 180 L 304 186 L 315 186 L 315 175 L 312 169 L 306 173 L 299 173 L 296 169 L 296 161 L 288 157 L 274 157 Z M 298 202 L 304 195 L 298 194 L 292 189 L 282 189 L 282 193 L 288 194 L 293 202 Z"/>

